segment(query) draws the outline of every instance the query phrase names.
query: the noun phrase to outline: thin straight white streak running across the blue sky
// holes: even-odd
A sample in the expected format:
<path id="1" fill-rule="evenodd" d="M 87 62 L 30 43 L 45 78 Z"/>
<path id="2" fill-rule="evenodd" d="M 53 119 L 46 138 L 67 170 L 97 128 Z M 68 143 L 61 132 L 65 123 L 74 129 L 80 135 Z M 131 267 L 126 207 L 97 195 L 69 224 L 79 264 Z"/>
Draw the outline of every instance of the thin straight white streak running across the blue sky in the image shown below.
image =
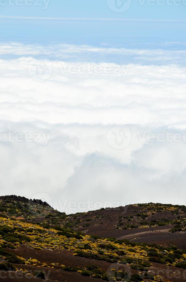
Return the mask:
<path id="1" fill-rule="evenodd" d="M 22 16 L 0 16 L 0 19 L 20 20 L 74 20 L 74 21 L 116 21 L 116 22 L 186 22 L 186 20 L 165 20 L 165 19 L 115 19 L 115 18 L 47 18 L 47 17 L 22 17 Z"/>

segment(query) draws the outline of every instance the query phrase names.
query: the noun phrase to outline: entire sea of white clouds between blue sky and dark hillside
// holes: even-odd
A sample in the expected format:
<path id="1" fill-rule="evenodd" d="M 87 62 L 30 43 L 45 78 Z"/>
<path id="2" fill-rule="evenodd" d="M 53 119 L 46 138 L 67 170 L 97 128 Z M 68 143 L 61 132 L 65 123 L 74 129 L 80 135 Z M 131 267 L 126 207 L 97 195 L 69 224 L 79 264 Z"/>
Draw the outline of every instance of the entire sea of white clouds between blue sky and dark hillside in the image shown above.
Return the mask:
<path id="1" fill-rule="evenodd" d="M 184 138 L 139 140 L 139 132 L 157 136 L 169 130 L 184 136 L 185 66 L 179 60 L 135 64 L 133 58 L 122 66 L 100 60 L 97 68 L 97 61 L 88 60 L 93 52 L 118 56 L 127 52 L 147 60 L 166 56 L 171 61 L 184 55 L 183 51 L 1 43 L 1 55 L 16 57 L 0 60 L 0 132 L 51 134 L 47 146 L 0 142 L 1 195 L 30 198 L 45 193 L 46 200 L 51 197 L 52 205 L 66 212 L 79 208 L 64 207 L 65 199 L 68 203 L 90 199 L 102 205 L 105 201 L 185 204 Z M 41 54 L 51 61 L 33 60 Z M 79 62 L 72 61 L 72 54 L 79 56 Z M 36 81 L 42 80 L 42 72 L 49 78 Z M 122 124 L 130 127 L 132 140 L 127 148 L 117 150 L 109 145 L 107 132 Z M 85 209 L 90 209 L 87 204 Z"/>

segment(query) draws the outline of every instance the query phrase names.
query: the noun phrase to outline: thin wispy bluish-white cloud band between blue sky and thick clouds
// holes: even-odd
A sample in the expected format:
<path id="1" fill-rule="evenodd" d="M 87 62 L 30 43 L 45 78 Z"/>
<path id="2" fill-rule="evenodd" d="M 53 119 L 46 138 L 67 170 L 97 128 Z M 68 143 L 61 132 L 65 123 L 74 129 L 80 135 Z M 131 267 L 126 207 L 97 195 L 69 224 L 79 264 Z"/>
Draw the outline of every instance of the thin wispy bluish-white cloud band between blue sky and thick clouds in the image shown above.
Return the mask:
<path id="1" fill-rule="evenodd" d="M 148 45 L 148 44 L 147 44 Z M 163 43 L 162 47 L 169 46 L 170 49 L 129 49 L 124 47 L 89 46 L 52 43 L 47 46 L 38 44 L 24 44 L 17 42 L 5 42 L 0 44 L 1 56 L 47 56 L 52 60 L 65 60 L 70 62 L 119 62 L 142 64 L 178 64 L 186 66 L 185 43 L 171 42 Z M 161 46 L 160 45 L 160 46 Z M 173 46 L 182 46 L 172 50 Z M 105 60 L 105 61 L 104 61 Z"/>

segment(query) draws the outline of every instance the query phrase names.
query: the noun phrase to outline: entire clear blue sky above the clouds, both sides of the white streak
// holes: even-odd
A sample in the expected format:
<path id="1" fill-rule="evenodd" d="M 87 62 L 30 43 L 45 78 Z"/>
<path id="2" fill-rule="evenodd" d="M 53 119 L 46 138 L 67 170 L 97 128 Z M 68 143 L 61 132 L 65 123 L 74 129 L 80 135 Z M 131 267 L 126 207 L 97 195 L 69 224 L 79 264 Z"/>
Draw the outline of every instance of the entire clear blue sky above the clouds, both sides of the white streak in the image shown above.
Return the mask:
<path id="1" fill-rule="evenodd" d="M 42 17 L 42 18 L 97 18 L 97 19 L 134 19 L 134 20 L 168 20 L 168 21 L 99 21 L 99 20 L 42 20 L 42 19 L 5 19 L 1 18 L 0 37 L 2 41 L 19 42 L 51 42 L 62 43 L 90 43 L 99 45 L 124 45 L 142 47 L 142 44 L 158 42 L 185 42 L 186 41 L 186 1 L 185 0 L 160 0 L 164 5 L 151 6 L 146 0 L 132 0 L 126 12 L 118 13 L 112 9 L 115 0 L 40 0 L 36 6 L 13 5 L 16 0 L 2 0 L 1 16 L 17 17 Z M 18 0 L 21 1 L 21 0 Z M 31 0 L 32 1 L 32 0 Z M 150 0 L 153 1 L 153 0 Z M 124 5 L 126 5 L 126 1 Z M 118 0 L 118 5 L 122 2 Z M 144 3 L 144 4 L 142 4 Z M 175 5 L 177 3 L 177 5 Z M 183 4 L 185 3 L 185 5 Z M 47 7 L 44 9 L 44 7 Z M 110 8 L 111 9 L 110 9 Z M 120 11 L 121 9 L 116 9 Z M 173 22 L 171 22 L 173 21 Z M 175 21 L 175 22 L 174 22 Z M 180 21 L 180 22 L 179 22 Z M 157 45 L 158 46 L 158 45 Z M 147 46 L 151 48 L 150 45 Z"/>

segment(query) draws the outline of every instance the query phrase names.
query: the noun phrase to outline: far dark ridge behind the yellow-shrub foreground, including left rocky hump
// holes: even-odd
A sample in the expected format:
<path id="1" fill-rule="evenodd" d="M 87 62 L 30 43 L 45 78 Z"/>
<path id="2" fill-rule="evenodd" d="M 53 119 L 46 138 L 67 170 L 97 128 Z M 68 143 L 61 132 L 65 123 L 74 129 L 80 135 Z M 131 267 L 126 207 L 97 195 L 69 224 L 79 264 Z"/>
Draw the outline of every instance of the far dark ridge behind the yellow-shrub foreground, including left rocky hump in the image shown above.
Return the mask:
<path id="1" fill-rule="evenodd" d="M 87 235 L 186 249 L 186 207 L 160 203 L 106 208 L 67 216 L 41 200 L 0 197 L 0 213 L 49 228 L 59 224 Z"/>

